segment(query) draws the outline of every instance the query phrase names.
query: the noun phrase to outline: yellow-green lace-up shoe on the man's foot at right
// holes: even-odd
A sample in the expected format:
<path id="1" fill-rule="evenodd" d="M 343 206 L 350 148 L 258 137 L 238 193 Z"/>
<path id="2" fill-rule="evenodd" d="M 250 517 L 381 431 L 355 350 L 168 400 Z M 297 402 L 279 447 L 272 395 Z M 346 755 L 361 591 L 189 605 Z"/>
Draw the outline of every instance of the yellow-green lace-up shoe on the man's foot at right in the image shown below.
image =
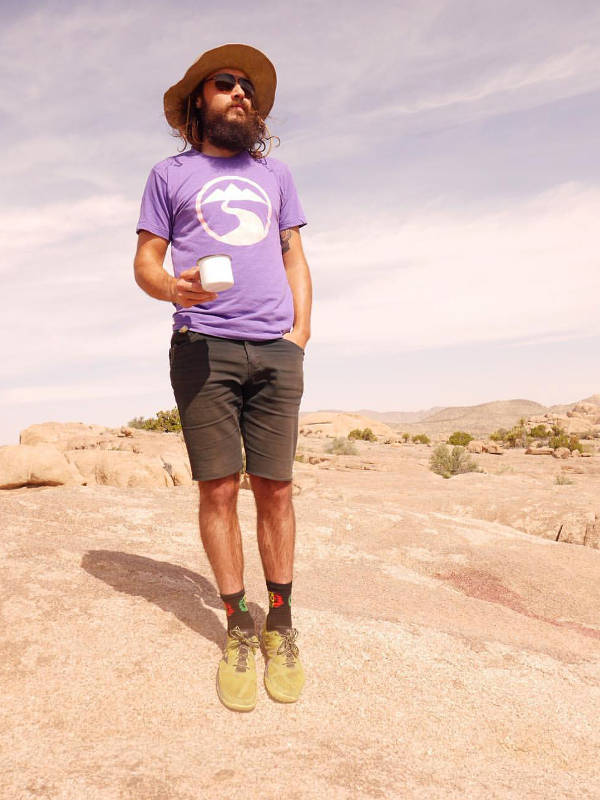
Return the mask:
<path id="1" fill-rule="evenodd" d="M 268 631 L 266 624 L 261 632 L 265 687 L 273 700 L 281 703 L 295 703 L 304 686 L 304 670 L 295 644 L 297 636 L 296 628 L 280 633 Z"/>

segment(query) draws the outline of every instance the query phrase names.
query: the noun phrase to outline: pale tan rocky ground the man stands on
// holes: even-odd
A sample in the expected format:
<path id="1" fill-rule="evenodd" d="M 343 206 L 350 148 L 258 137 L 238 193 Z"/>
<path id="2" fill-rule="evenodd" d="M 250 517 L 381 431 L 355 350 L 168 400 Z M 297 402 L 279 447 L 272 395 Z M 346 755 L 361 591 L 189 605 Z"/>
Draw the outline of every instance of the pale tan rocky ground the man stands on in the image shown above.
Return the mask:
<path id="1" fill-rule="evenodd" d="M 245 715 L 215 692 L 194 485 L 0 493 L 2 797 L 600 796 L 600 551 L 559 534 L 593 530 L 600 458 L 483 453 L 444 480 L 426 446 L 327 445 L 296 465 L 307 685 Z"/>

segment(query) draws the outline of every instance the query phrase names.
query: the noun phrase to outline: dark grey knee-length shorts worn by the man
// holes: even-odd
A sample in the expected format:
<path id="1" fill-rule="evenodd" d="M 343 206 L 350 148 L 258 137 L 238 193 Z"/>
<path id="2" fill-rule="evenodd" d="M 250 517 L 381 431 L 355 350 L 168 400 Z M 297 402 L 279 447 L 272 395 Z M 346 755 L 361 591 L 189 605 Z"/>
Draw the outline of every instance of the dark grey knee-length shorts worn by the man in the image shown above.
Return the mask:
<path id="1" fill-rule="evenodd" d="M 223 478 L 242 469 L 292 479 L 304 351 L 289 339 L 250 342 L 176 331 L 169 350 L 192 477 Z"/>

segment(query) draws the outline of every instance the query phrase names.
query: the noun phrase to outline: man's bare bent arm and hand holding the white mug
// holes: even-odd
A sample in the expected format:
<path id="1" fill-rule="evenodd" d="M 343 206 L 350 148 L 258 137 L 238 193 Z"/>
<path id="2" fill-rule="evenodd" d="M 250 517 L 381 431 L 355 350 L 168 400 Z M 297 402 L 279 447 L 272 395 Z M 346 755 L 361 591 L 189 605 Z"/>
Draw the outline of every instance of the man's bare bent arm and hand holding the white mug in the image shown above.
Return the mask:
<path id="1" fill-rule="evenodd" d="M 214 292 L 205 292 L 200 283 L 198 267 L 186 269 L 179 279 L 169 275 L 163 262 L 169 242 L 149 231 L 140 231 L 133 261 L 133 272 L 137 285 L 150 297 L 177 303 L 191 308 L 199 303 L 214 300 Z"/>

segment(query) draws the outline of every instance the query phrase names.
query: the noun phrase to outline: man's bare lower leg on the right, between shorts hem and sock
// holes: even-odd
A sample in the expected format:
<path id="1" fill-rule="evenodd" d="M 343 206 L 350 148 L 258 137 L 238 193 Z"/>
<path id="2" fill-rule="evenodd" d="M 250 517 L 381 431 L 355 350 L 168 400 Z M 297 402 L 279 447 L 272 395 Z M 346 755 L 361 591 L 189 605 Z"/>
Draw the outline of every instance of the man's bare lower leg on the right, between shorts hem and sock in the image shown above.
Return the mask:
<path id="1" fill-rule="evenodd" d="M 296 517 L 292 482 L 250 475 L 257 514 L 258 549 L 265 578 L 290 583 L 294 570 Z"/>

